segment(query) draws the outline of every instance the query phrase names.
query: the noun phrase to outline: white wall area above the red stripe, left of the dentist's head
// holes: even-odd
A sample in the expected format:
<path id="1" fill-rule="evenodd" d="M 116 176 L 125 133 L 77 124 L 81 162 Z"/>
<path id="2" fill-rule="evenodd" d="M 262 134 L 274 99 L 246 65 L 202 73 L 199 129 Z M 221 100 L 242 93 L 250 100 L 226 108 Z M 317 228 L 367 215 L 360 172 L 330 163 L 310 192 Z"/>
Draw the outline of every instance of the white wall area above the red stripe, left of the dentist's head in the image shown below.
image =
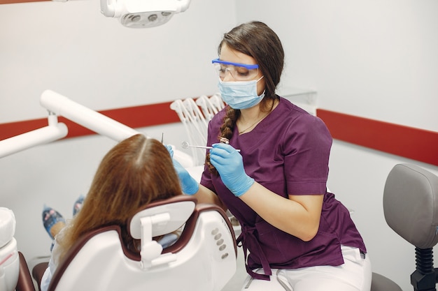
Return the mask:
<path id="1" fill-rule="evenodd" d="M 98 0 L 0 6 L 0 122 L 44 117 L 45 89 L 96 110 L 216 92 L 211 59 L 235 24 L 231 0 L 193 0 L 151 29 L 99 9 Z"/>

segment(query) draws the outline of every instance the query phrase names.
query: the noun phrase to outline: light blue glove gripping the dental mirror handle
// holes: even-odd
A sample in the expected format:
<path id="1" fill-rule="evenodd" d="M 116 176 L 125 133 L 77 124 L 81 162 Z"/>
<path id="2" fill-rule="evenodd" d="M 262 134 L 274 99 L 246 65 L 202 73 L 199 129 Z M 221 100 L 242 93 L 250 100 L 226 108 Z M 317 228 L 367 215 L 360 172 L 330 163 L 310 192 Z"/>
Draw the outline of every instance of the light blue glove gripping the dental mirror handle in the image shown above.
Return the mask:
<path id="1" fill-rule="evenodd" d="M 254 184 L 243 168 L 243 159 L 239 151 L 229 144 L 213 144 L 210 149 L 211 164 L 216 167 L 222 182 L 236 197 L 246 193 Z"/>

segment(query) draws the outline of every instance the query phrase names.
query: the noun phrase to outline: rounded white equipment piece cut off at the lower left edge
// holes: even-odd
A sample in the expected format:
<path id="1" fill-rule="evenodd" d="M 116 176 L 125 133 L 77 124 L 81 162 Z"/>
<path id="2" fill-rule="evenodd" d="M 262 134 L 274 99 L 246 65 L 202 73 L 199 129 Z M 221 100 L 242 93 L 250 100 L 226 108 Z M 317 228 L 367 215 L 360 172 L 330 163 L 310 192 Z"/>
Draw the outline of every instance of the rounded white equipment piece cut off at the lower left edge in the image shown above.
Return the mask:
<path id="1" fill-rule="evenodd" d="M 0 207 L 0 290 L 13 291 L 17 285 L 20 271 L 20 258 L 17 252 L 15 216 L 13 211 Z"/>

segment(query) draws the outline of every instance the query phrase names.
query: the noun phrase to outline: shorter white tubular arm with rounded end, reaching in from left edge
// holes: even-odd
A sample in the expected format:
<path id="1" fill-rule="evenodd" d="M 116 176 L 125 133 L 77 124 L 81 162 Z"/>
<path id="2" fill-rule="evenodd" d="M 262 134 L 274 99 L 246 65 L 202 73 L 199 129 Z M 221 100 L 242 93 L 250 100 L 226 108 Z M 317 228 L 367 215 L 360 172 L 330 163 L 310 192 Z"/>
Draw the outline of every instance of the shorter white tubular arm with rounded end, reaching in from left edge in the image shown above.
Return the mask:
<path id="1" fill-rule="evenodd" d="M 68 133 L 67 126 L 59 123 L 55 125 L 45 126 L 36 130 L 10 137 L 0 141 L 0 158 L 14 154 L 30 147 L 35 147 L 38 144 L 46 144 L 65 137 Z"/>

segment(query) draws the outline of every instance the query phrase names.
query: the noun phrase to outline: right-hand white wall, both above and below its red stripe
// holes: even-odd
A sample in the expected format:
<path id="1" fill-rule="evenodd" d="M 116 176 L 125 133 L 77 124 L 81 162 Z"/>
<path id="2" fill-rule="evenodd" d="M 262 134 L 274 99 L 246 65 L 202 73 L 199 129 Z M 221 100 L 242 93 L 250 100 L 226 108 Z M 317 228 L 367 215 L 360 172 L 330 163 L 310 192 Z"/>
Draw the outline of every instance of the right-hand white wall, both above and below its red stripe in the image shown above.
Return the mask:
<path id="1" fill-rule="evenodd" d="M 437 1 L 236 3 L 238 22 L 262 20 L 283 41 L 282 87 L 316 90 L 318 107 L 327 110 L 438 131 Z M 438 174 L 433 165 L 334 140 L 329 187 L 353 209 L 374 271 L 408 291 L 414 247 L 388 227 L 382 206 L 397 163 Z"/>

